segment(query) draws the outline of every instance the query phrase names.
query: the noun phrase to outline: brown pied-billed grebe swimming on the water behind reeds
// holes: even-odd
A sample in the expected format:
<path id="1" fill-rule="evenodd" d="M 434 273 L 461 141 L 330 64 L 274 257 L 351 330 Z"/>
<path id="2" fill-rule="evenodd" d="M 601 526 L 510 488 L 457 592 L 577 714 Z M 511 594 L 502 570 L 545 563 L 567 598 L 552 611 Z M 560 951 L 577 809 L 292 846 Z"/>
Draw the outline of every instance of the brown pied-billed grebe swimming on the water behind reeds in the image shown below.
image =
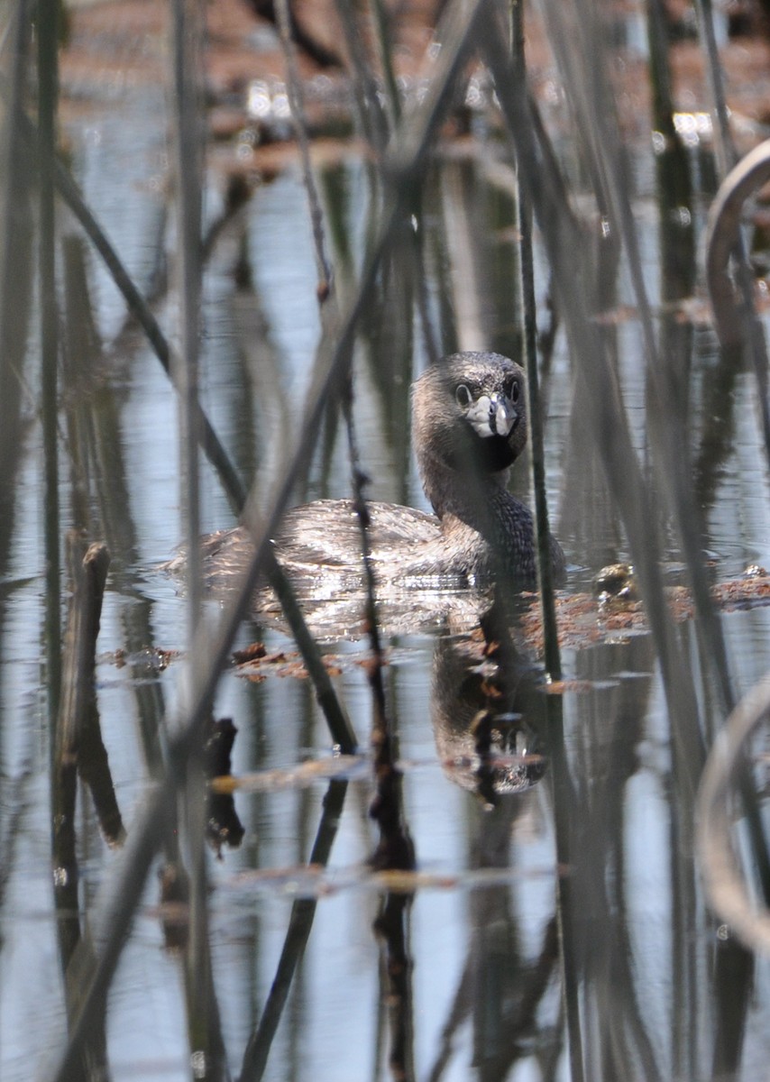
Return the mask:
<path id="1" fill-rule="evenodd" d="M 377 581 L 483 582 L 502 571 L 516 586 L 535 583 L 532 515 L 506 489 L 508 467 L 527 443 L 525 373 L 496 353 L 456 353 L 412 386 L 412 438 L 435 515 L 368 503 Z M 360 579 L 361 536 L 349 500 L 318 500 L 287 512 L 276 555 L 292 579 L 313 588 L 321 576 Z M 225 585 L 245 565 L 251 544 L 236 527 L 204 539 L 210 585 Z M 554 571 L 565 557 L 550 538 Z M 348 579 L 348 572 L 350 578 Z"/>

